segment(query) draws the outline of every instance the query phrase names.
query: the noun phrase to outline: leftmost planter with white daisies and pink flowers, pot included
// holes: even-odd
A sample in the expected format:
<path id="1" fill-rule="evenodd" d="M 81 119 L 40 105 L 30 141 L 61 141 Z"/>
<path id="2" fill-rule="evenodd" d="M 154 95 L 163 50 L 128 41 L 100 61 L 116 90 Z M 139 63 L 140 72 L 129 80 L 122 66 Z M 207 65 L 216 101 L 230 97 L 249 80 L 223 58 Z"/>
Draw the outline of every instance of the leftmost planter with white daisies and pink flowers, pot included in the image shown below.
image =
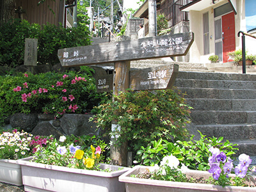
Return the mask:
<path id="1" fill-rule="evenodd" d="M 31 156 L 35 145 L 39 142 L 44 145 L 42 140 L 47 139 L 40 136 L 35 138 L 28 132 L 17 129 L 3 131 L 0 135 L 0 181 L 22 186 L 22 173 L 17 159 Z"/>

